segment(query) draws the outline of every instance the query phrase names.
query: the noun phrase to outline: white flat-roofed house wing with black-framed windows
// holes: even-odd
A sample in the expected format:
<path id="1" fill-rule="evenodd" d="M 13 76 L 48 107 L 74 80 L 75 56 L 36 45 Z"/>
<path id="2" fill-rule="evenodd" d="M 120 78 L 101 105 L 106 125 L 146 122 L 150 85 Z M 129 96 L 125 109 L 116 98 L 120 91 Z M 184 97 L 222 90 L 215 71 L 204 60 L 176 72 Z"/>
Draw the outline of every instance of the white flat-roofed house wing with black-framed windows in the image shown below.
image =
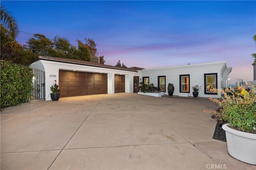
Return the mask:
<path id="1" fill-rule="evenodd" d="M 174 85 L 173 95 L 188 93 L 193 96 L 192 86 L 199 85 L 202 89 L 200 97 L 216 98 L 217 94 L 211 88 L 224 88 L 223 80 L 228 80 L 232 67 L 227 67 L 226 62 L 187 64 L 165 68 L 152 68 L 138 70 L 135 74 L 143 84 L 160 87 L 164 94 L 168 94 L 168 84 Z"/>

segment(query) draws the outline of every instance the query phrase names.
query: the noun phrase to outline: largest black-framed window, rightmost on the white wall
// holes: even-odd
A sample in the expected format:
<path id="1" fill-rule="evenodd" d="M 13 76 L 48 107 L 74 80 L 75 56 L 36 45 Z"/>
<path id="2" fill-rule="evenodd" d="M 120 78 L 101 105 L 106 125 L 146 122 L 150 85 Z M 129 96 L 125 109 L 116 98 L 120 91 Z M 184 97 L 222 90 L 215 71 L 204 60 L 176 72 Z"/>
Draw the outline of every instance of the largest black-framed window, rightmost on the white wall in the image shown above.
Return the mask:
<path id="1" fill-rule="evenodd" d="M 217 73 L 204 74 L 204 94 L 217 94 L 210 89 L 217 88 Z"/>

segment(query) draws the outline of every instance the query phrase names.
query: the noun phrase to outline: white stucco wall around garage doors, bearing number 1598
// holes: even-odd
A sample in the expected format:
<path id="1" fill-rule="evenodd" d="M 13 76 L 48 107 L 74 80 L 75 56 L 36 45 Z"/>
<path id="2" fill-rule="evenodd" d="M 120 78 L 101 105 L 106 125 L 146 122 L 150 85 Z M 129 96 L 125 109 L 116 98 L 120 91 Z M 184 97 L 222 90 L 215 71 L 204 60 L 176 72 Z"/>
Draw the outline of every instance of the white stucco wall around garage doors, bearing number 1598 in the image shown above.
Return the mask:
<path id="1" fill-rule="evenodd" d="M 50 86 L 54 83 L 54 80 L 59 82 L 59 70 L 75 70 L 82 72 L 97 72 L 108 74 L 108 94 L 114 94 L 114 75 L 125 75 L 125 92 L 133 93 L 133 76 L 136 72 L 128 70 L 118 70 L 112 68 L 102 68 L 96 66 L 86 66 L 71 63 L 60 63 L 55 61 L 38 60 L 35 63 L 30 64 L 31 68 L 45 71 L 45 100 L 50 100 Z"/>

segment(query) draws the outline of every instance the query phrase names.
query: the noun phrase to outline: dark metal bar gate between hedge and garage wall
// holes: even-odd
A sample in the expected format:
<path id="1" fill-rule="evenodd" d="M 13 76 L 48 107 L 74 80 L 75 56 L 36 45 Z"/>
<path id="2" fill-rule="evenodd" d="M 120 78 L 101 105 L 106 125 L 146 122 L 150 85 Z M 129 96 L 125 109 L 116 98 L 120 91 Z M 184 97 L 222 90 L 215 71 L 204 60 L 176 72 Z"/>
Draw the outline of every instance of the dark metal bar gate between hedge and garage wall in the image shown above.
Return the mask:
<path id="1" fill-rule="evenodd" d="M 33 90 L 31 91 L 28 100 L 45 99 L 44 71 L 33 69 L 33 75 Z"/>

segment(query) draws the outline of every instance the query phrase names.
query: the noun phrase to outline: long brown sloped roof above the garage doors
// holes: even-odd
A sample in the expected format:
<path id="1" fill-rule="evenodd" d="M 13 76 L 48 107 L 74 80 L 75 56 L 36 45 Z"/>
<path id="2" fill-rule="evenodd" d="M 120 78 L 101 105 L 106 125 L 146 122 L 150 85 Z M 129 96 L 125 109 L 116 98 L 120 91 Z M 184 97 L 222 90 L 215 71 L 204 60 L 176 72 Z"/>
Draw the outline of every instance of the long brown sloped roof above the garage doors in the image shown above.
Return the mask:
<path id="1" fill-rule="evenodd" d="M 112 68 L 117 70 L 137 72 L 136 70 L 132 70 L 130 68 L 122 68 L 122 67 L 110 66 L 110 65 L 100 64 L 100 63 L 92 63 L 89 61 L 82 61 L 82 60 L 76 60 L 76 59 L 64 59 L 64 58 L 58 58 L 58 57 L 39 56 L 38 60 L 55 61 L 60 63 L 79 64 L 79 65 L 86 65 L 86 66 L 95 66 L 95 67 Z"/>

